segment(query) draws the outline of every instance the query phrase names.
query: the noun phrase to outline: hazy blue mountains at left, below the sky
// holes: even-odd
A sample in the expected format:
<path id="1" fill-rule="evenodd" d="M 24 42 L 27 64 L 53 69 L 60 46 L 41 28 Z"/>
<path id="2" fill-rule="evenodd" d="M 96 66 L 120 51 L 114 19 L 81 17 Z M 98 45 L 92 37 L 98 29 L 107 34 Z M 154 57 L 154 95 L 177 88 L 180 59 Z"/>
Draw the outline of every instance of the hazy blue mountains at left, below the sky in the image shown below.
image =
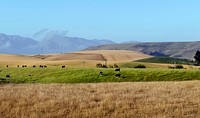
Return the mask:
<path id="1" fill-rule="evenodd" d="M 41 54 L 80 51 L 91 46 L 114 44 L 110 40 L 88 40 L 58 34 L 45 36 L 41 41 L 18 35 L 0 33 L 0 53 Z"/>

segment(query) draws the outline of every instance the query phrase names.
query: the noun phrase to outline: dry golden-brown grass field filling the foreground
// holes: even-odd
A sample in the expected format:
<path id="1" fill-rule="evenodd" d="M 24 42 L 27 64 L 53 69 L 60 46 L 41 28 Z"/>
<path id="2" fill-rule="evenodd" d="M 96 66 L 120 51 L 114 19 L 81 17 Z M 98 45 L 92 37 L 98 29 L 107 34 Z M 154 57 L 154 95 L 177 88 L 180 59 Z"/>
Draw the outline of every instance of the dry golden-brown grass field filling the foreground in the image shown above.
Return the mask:
<path id="1" fill-rule="evenodd" d="M 200 117 L 200 81 L 2 84 L 0 117 Z"/>

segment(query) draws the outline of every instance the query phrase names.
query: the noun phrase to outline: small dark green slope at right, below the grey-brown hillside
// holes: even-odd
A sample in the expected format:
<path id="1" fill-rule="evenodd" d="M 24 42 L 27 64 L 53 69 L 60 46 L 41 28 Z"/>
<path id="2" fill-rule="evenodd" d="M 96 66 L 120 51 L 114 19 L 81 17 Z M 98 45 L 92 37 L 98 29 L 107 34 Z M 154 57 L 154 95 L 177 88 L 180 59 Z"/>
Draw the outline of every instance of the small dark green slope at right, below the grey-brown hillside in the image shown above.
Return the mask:
<path id="1" fill-rule="evenodd" d="M 147 59 L 141 59 L 137 60 L 135 62 L 148 62 L 148 63 L 168 63 L 168 64 L 193 64 L 191 61 L 188 61 L 186 59 L 178 59 L 178 58 L 172 58 L 172 57 L 151 57 Z"/>

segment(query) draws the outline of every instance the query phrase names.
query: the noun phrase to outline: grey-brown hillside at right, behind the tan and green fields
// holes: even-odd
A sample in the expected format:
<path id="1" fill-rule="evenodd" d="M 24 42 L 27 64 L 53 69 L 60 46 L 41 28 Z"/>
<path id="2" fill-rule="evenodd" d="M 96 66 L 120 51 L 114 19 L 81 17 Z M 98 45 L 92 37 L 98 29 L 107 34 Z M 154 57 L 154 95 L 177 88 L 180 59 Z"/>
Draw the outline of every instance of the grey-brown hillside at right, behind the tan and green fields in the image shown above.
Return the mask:
<path id="1" fill-rule="evenodd" d="M 126 44 L 108 44 L 90 47 L 86 50 L 132 50 L 153 56 L 194 59 L 193 57 L 196 51 L 200 50 L 200 42 L 137 42 Z"/>

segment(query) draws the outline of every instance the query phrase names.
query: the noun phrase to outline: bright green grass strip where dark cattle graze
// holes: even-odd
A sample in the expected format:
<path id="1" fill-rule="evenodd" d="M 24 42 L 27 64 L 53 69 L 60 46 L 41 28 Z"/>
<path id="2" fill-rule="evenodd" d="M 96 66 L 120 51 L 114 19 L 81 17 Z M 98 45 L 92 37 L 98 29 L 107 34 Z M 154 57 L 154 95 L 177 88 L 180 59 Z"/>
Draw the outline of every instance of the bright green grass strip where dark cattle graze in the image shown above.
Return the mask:
<path id="1" fill-rule="evenodd" d="M 103 76 L 99 76 L 99 72 Z M 5 78 L 9 74 L 10 78 Z M 116 78 L 114 69 L 74 68 L 4 68 L 0 70 L 0 83 L 95 83 L 200 80 L 199 70 L 176 69 L 121 69 Z M 30 75 L 30 76 L 29 76 Z"/>

